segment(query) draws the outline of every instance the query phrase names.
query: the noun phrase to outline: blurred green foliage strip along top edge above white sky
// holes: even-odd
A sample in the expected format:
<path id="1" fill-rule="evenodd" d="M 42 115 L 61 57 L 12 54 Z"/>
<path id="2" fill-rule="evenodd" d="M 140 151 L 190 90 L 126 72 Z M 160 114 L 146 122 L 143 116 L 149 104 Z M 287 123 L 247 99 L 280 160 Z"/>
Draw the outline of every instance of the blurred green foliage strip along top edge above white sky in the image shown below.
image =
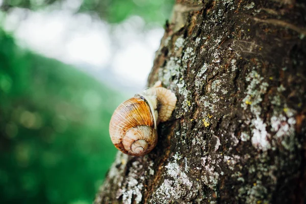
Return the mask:
<path id="1" fill-rule="evenodd" d="M 78 7 L 77 12 L 96 14 L 111 23 L 117 23 L 129 16 L 139 15 L 146 22 L 157 22 L 160 25 L 170 18 L 174 0 L 3 0 L 1 9 L 9 11 L 11 8 L 42 9 L 47 5 L 55 5 L 61 9 Z M 64 3 L 64 4 L 63 4 Z"/>

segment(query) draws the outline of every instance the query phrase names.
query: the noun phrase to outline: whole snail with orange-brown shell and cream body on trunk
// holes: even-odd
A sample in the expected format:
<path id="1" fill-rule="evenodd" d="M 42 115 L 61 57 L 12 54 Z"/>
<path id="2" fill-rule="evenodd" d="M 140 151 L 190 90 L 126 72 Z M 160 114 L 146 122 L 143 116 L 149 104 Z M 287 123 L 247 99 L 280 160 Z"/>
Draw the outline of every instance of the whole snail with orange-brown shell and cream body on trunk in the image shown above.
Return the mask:
<path id="1" fill-rule="evenodd" d="M 113 144 L 127 155 L 148 154 L 157 144 L 157 125 L 171 117 L 175 104 L 175 94 L 162 87 L 160 81 L 124 101 L 110 121 Z"/>

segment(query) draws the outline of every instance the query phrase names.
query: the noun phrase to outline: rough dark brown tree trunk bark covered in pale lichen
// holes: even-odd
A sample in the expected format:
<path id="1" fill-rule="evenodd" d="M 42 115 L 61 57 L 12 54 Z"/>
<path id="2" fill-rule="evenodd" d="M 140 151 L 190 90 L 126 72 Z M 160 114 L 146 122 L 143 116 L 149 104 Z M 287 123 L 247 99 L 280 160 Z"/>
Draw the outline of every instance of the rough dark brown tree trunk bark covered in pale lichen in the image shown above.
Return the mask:
<path id="1" fill-rule="evenodd" d="M 306 3 L 177 0 L 148 86 L 178 102 L 95 203 L 305 203 Z"/>

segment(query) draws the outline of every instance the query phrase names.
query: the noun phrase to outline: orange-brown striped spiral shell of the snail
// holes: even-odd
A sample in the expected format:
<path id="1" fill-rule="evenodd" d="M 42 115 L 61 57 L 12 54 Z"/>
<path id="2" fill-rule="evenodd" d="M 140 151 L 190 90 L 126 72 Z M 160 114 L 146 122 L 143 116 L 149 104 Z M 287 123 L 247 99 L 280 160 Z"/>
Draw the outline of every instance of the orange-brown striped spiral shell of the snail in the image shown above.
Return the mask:
<path id="1" fill-rule="evenodd" d="M 115 110 L 110 121 L 111 140 L 125 154 L 145 155 L 157 144 L 155 124 L 147 101 L 135 95 Z"/>

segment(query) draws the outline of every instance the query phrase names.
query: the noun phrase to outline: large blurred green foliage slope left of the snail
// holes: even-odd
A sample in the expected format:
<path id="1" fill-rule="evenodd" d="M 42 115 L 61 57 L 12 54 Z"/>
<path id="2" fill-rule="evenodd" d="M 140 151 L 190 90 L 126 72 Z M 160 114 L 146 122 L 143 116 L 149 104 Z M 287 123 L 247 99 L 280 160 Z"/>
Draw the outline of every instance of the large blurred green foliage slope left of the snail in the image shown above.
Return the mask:
<path id="1" fill-rule="evenodd" d="M 116 153 L 108 124 L 119 101 L 0 29 L 1 203 L 91 203 Z"/>

